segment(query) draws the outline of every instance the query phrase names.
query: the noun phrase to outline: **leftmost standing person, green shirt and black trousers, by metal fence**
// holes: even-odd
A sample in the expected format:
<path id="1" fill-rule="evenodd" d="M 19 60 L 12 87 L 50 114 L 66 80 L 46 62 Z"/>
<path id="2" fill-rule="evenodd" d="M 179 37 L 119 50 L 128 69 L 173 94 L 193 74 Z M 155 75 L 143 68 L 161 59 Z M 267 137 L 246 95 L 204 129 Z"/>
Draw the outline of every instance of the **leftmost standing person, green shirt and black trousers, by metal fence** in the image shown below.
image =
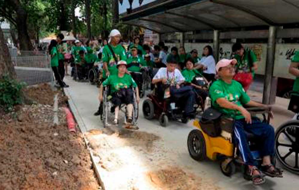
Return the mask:
<path id="1" fill-rule="evenodd" d="M 49 54 L 51 56 L 51 67 L 55 76 L 55 79 L 57 83 L 60 85 L 60 87 L 65 88 L 68 87 L 60 77 L 60 74 L 58 72 L 58 51 L 57 51 L 57 41 L 56 40 L 51 40 L 51 43 L 49 45 Z"/>

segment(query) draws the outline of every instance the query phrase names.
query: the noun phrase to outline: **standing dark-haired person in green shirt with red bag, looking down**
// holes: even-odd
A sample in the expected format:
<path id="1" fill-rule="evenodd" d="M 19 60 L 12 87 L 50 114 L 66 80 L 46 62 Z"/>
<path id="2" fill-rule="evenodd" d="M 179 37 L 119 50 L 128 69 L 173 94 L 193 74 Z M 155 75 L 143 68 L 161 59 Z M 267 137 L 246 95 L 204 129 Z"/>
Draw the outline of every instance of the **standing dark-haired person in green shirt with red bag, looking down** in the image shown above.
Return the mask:
<path id="1" fill-rule="evenodd" d="M 238 61 L 235 65 L 236 75 L 234 80 L 242 84 L 245 91 L 248 91 L 257 70 L 257 56 L 250 49 L 244 49 L 241 43 L 235 43 L 232 47 L 234 58 Z"/>

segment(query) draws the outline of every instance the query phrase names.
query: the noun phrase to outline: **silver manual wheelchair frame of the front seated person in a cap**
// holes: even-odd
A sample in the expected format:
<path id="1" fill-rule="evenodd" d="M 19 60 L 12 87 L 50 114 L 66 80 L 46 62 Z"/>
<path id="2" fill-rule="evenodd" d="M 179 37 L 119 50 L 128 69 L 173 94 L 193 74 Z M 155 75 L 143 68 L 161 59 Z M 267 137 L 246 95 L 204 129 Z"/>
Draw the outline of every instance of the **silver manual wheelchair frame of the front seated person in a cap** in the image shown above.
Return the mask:
<path id="1" fill-rule="evenodd" d="M 133 87 L 132 87 L 133 88 Z M 104 88 L 104 91 L 103 91 L 103 114 L 105 114 L 105 117 L 103 118 L 103 115 L 101 115 L 101 120 L 103 121 L 103 126 L 106 127 L 109 125 L 108 123 L 108 114 L 109 114 L 109 104 L 112 104 L 112 102 L 110 102 L 108 100 L 108 96 L 109 96 L 109 88 L 108 86 L 106 86 Z M 133 89 L 133 98 L 134 98 L 134 103 L 133 103 L 133 114 L 132 114 L 132 125 L 137 125 L 137 120 L 138 120 L 138 110 L 139 110 L 139 107 L 138 107 L 138 103 L 136 101 L 136 92 L 135 92 L 135 89 Z M 121 104 L 120 105 L 120 111 L 123 112 L 125 114 L 125 123 L 126 123 L 126 117 L 127 117 L 127 114 L 126 114 L 126 110 L 124 111 L 122 108 L 126 108 L 126 105 L 125 104 Z"/>

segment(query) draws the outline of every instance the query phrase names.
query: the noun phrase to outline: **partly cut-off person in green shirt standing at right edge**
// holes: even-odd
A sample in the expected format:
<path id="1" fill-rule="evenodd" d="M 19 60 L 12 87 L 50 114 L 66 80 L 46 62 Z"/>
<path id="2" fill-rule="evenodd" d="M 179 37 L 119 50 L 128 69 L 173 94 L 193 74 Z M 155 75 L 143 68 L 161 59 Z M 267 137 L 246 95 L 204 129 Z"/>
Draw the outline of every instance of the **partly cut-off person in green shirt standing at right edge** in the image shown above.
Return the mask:
<path id="1" fill-rule="evenodd" d="M 299 113 L 299 51 L 295 52 L 295 56 L 289 66 L 289 73 L 294 75 L 296 79 L 293 85 L 293 92 L 291 94 L 288 110 Z"/>

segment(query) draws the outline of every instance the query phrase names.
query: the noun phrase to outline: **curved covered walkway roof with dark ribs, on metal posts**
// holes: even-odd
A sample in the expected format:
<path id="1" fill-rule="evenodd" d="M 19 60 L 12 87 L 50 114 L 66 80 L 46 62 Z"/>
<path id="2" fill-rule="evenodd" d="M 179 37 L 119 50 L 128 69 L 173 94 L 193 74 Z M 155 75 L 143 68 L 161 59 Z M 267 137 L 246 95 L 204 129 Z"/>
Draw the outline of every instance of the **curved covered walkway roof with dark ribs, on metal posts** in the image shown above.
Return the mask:
<path id="1" fill-rule="evenodd" d="M 299 0 L 157 0 L 121 20 L 160 34 L 299 23 Z"/>

